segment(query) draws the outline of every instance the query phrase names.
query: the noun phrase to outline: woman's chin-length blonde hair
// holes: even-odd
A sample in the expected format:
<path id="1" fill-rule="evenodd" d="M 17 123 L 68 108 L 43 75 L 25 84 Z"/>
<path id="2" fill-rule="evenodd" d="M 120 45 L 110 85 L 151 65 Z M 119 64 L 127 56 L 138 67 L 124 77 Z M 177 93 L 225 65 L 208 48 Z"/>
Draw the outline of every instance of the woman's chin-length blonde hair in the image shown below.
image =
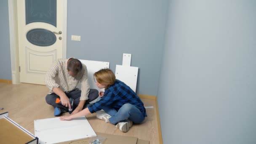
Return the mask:
<path id="1" fill-rule="evenodd" d="M 93 74 L 93 79 L 100 84 L 107 85 L 107 89 L 115 83 L 115 74 L 111 69 L 101 69 Z"/>

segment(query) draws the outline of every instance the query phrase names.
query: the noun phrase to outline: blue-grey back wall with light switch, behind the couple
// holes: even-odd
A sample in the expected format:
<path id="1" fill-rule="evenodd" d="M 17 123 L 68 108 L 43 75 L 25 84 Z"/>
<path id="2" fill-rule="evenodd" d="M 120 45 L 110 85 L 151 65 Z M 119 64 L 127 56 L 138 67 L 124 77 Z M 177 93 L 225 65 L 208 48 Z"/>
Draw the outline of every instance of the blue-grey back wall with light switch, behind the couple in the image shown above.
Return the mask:
<path id="1" fill-rule="evenodd" d="M 156 95 L 168 0 L 68 0 L 67 57 L 139 67 L 137 93 Z M 71 41 L 80 35 L 81 41 Z"/>

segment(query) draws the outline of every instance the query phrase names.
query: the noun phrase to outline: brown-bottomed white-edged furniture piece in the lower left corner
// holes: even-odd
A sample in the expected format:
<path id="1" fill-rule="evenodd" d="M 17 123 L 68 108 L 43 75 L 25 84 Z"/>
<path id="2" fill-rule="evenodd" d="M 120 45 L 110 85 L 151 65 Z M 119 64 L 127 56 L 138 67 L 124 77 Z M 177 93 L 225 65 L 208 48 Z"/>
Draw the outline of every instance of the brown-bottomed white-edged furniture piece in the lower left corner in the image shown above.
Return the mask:
<path id="1" fill-rule="evenodd" d="M 38 144 L 38 138 L 8 117 L 0 114 L 0 144 Z"/>

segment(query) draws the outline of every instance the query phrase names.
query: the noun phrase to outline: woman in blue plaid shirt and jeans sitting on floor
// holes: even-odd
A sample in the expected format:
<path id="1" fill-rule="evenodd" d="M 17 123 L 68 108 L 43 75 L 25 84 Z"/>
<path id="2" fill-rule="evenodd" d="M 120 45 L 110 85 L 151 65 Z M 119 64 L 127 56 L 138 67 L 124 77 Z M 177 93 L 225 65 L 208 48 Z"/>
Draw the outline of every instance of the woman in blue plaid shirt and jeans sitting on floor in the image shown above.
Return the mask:
<path id="1" fill-rule="evenodd" d="M 93 77 L 98 88 L 105 88 L 104 92 L 99 92 L 101 100 L 74 115 L 60 117 L 61 120 L 72 120 L 103 109 L 105 112 L 97 112 L 99 119 L 117 124 L 120 131 L 127 132 L 133 123 L 141 123 L 147 117 L 141 99 L 128 85 L 115 79 L 115 74 L 110 69 L 101 69 Z"/>

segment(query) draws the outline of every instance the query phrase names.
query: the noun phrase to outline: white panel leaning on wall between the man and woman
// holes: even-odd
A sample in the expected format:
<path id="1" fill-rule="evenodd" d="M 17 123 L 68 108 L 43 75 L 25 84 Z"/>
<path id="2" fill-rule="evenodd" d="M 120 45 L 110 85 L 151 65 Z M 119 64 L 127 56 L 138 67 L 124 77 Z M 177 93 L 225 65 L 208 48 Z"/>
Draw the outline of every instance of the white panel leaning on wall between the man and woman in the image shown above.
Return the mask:
<path id="1" fill-rule="evenodd" d="M 94 88 L 100 91 L 104 91 L 104 89 L 99 89 L 96 85 L 95 82 L 93 80 L 93 74 L 97 71 L 99 71 L 100 69 L 105 69 L 105 68 L 109 68 L 109 62 L 105 62 L 105 61 L 88 61 L 88 60 L 82 60 L 79 59 L 83 64 L 86 65 L 87 67 L 87 71 L 88 71 L 88 81 L 89 81 L 89 85 L 90 88 Z"/>

